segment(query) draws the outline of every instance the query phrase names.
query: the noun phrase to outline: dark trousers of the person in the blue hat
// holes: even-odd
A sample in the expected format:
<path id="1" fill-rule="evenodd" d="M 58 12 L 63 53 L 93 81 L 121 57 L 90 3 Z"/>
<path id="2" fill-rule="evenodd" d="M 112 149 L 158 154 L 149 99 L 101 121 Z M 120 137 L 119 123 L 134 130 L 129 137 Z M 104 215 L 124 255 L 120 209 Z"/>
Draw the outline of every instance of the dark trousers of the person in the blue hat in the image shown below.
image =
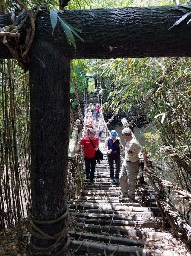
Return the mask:
<path id="1" fill-rule="evenodd" d="M 120 152 L 107 154 L 107 159 L 109 162 L 110 177 L 111 179 L 119 179 L 120 171 Z M 115 176 L 114 176 L 114 160 L 115 160 Z"/>

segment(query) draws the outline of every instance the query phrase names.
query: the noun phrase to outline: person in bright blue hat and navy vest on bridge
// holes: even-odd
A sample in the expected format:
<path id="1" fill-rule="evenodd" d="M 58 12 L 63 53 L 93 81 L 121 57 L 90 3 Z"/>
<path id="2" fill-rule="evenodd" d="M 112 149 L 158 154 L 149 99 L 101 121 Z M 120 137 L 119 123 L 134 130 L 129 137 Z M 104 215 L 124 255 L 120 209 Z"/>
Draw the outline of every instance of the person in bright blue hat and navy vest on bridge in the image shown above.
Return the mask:
<path id="1" fill-rule="evenodd" d="M 111 130 L 110 136 L 106 138 L 104 148 L 107 150 L 107 159 L 109 162 L 111 183 L 119 182 L 120 171 L 120 148 L 125 150 L 121 143 L 121 139 L 117 137 L 117 132 Z M 114 160 L 115 160 L 115 176 L 114 176 Z"/>

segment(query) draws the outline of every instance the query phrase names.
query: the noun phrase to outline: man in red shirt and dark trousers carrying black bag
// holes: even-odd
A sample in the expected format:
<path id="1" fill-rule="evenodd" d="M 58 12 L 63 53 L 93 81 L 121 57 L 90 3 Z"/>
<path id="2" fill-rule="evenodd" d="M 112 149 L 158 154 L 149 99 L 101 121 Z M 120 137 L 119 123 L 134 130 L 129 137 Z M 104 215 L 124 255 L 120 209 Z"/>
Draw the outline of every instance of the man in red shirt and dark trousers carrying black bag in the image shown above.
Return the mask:
<path id="1" fill-rule="evenodd" d="M 84 161 L 85 161 L 85 174 L 86 178 L 90 178 L 90 183 L 94 183 L 94 173 L 95 173 L 95 166 L 96 166 L 96 157 L 95 157 L 95 151 L 98 150 L 99 146 L 99 140 L 97 137 L 95 137 L 96 132 L 94 130 L 90 130 L 89 136 L 84 137 L 76 147 L 76 150 L 78 151 L 81 146 L 84 146 Z M 92 143 L 90 142 L 92 141 Z M 90 175 L 90 176 L 89 176 Z"/>

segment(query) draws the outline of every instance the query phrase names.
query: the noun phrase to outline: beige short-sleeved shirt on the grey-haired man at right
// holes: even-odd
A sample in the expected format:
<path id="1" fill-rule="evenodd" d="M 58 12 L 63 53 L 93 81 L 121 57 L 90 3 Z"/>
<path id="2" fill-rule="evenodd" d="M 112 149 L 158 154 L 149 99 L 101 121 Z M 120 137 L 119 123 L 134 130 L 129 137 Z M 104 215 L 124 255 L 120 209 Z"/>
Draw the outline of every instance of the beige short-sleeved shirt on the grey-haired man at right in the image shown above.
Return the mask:
<path id="1" fill-rule="evenodd" d="M 136 138 L 133 137 L 131 140 L 127 140 L 125 145 L 125 160 L 130 162 L 138 161 L 138 154 L 141 151 L 143 151 L 143 148 Z"/>

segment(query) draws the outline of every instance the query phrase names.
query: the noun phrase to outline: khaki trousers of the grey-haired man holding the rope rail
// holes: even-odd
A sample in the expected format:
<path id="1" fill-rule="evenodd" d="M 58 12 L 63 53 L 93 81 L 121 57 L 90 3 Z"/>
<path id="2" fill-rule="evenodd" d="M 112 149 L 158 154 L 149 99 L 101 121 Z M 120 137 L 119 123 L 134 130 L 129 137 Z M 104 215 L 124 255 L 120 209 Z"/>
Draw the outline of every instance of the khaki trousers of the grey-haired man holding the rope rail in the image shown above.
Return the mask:
<path id="1" fill-rule="evenodd" d="M 121 187 L 122 195 L 125 197 L 135 198 L 135 180 L 139 173 L 139 161 L 127 162 L 123 161 L 120 175 L 119 184 Z M 129 190 L 129 194 L 128 194 Z"/>

